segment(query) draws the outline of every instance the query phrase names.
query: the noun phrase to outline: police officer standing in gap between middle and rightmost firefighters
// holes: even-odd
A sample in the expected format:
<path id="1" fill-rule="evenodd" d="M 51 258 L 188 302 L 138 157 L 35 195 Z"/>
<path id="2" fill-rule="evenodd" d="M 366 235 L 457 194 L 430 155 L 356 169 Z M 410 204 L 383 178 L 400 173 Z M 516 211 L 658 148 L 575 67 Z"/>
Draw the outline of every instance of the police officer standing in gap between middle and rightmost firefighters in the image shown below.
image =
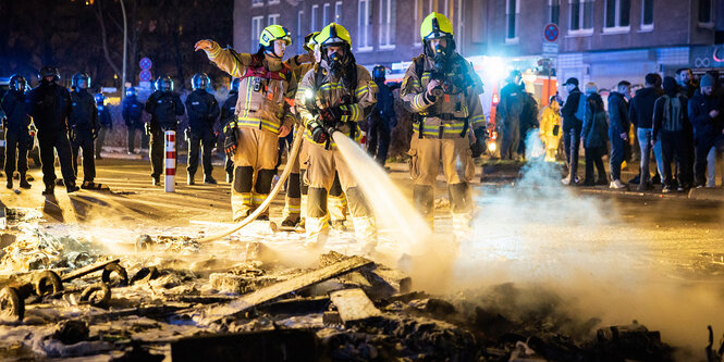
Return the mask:
<path id="1" fill-rule="evenodd" d="M 375 112 L 369 116 L 367 129 L 367 152 L 375 157 L 380 165 L 384 166 L 390 149 L 390 132 L 397 125 L 395 115 L 394 97 L 392 91 L 400 88 L 398 83 L 390 86 L 385 84 L 385 70 L 382 65 L 372 68 L 372 78 L 377 84 L 377 104 Z"/>

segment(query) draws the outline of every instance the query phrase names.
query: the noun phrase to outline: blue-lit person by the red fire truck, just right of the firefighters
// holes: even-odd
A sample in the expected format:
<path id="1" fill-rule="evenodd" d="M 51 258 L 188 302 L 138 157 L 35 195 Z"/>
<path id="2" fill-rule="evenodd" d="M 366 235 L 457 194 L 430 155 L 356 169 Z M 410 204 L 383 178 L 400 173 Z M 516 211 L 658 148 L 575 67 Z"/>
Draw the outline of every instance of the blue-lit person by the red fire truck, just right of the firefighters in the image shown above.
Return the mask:
<path id="1" fill-rule="evenodd" d="M 517 159 L 520 142 L 520 113 L 524 105 L 524 91 L 520 89 L 523 76 L 519 71 L 511 72 L 508 84 L 501 89 L 501 98 L 495 108 L 495 125 L 503 135 L 501 159 Z"/>

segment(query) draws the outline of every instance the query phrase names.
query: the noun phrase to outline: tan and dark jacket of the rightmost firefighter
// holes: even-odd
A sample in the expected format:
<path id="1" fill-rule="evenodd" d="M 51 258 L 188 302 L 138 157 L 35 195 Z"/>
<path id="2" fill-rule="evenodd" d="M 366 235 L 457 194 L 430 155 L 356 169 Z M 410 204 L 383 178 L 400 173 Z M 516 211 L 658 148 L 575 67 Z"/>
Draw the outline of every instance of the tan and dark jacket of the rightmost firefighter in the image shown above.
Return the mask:
<path id="1" fill-rule="evenodd" d="M 434 62 L 425 55 L 413 60 L 402 82 L 400 98 L 414 114 L 415 134 L 419 138 L 467 137 L 470 128 L 484 127 L 486 116 L 480 104 L 482 83 L 473 66 L 455 53 L 444 75 L 435 71 Z M 442 78 L 444 95 L 431 100 L 427 86 Z"/>

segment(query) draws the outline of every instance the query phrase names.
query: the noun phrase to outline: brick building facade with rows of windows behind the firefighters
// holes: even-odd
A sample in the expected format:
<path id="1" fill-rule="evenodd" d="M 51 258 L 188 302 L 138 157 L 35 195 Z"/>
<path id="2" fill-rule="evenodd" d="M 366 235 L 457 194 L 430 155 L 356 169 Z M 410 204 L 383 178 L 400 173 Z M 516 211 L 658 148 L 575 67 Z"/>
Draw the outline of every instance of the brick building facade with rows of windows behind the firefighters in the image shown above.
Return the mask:
<path id="1" fill-rule="evenodd" d="M 541 88 L 556 88 L 545 83 L 549 71 L 553 80 L 575 76 L 611 88 L 622 79 L 640 84 L 651 72 L 724 66 L 716 46 L 723 9 L 715 0 L 236 0 L 234 47 L 254 52 L 261 29 L 281 24 L 293 33 L 292 55 L 306 34 L 336 22 L 349 30 L 357 62 L 389 66 L 394 79 L 422 52 L 420 23 L 438 11 L 486 83 L 484 103 L 512 68 L 526 71 L 544 103 L 554 90 Z M 548 24 L 557 26 L 555 41 L 544 38 Z"/>

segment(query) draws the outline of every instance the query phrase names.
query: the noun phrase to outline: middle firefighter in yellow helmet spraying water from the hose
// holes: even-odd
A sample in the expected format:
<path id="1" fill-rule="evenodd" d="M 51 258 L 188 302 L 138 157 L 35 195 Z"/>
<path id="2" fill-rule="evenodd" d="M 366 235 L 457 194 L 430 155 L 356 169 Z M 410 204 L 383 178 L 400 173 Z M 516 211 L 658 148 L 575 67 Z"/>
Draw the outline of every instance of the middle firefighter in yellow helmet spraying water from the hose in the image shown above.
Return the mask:
<path id="1" fill-rule="evenodd" d="M 349 203 L 355 235 L 364 244 L 364 251 L 371 252 L 377 246 L 375 219 L 332 135 L 341 132 L 352 139 L 360 138 L 357 123 L 371 112 L 377 85 L 369 72 L 355 62 L 352 39 L 343 26 L 332 23 L 315 39 L 320 61 L 303 77 L 295 99 L 308 143 L 304 177 L 309 186 L 307 246 L 321 247 L 329 235 L 327 196 L 336 172 Z"/>

